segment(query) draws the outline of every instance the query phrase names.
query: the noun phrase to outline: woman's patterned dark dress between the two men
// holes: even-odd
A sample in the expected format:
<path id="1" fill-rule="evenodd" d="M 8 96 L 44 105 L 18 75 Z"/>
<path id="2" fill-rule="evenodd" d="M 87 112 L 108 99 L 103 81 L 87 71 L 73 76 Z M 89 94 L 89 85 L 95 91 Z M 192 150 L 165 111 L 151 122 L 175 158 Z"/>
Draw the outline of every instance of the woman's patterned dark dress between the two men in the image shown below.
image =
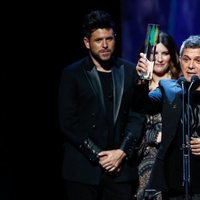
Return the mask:
<path id="1" fill-rule="evenodd" d="M 160 113 L 155 115 L 146 115 L 144 136 L 138 151 L 139 186 L 135 195 L 137 200 L 143 200 L 145 197 L 145 189 L 160 145 L 156 140 L 162 129 L 161 121 L 162 117 Z M 154 199 L 161 199 L 161 194 L 158 193 Z"/>

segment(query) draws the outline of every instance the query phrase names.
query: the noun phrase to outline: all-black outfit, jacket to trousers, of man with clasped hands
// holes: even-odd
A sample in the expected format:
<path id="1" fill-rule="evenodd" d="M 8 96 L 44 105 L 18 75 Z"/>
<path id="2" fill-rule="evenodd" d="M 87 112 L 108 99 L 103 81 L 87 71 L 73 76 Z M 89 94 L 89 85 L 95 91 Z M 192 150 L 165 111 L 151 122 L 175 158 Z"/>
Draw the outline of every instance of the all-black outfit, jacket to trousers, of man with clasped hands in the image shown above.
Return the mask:
<path id="1" fill-rule="evenodd" d="M 111 197 L 110 191 L 105 192 L 110 199 L 131 199 L 130 183 L 138 178 L 132 156 L 144 121 L 130 112 L 135 74 L 134 65 L 119 58 L 113 58 L 111 73 L 98 72 L 89 57 L 64 69 L 59 110 L 65 136 L 63 177 L 71 191 L 67 199 L 96 199 L 106 185 L 122 195 Z M 98 153 L 119 148 L 127 154 L 120 172 L 105 172 L 98 164 Z"/>

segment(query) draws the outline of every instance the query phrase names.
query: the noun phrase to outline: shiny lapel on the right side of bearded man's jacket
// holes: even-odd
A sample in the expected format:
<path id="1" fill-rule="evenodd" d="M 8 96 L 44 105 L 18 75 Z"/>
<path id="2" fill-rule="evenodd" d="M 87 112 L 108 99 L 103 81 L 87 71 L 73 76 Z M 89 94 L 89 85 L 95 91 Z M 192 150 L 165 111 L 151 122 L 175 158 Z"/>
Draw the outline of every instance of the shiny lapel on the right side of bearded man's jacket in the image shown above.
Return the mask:
<path id="1" fill-rule="evenodd" d="M 124 91 L 124 66 L 121 65 L 120 67 L 113 67 L 112 76 L 113 76 L 113 97 L 114 97 L 113 115 L 115 124 Z"/>

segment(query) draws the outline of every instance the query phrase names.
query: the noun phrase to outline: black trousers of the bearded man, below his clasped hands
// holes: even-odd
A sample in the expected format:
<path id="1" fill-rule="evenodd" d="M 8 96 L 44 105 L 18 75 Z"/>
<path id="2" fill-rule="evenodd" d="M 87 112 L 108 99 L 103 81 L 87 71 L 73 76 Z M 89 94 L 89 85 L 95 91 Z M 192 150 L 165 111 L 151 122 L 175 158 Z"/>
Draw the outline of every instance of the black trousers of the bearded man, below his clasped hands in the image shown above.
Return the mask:
<path id="1" fill-rule="evenodd" d="M 132 200 L 136 184 L 115 183 L 106 175 L 99 185 L 65 181 L 64 200 Z"/>

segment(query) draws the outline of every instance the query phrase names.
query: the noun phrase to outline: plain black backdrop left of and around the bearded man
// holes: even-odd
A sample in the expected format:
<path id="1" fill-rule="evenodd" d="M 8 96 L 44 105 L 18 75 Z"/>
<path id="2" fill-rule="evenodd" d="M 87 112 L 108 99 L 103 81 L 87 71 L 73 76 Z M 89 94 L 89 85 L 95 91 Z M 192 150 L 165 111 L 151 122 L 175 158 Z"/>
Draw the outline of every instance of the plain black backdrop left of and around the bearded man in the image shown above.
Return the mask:
<path id="1" fill-rule="evenodd" d="M 83 16 L 90 10 L 110 12 L 119 24 L 120 37 L 120 1 L 114 3 L 84 0 L 14 8 L 11 21 L 15 26 L 10 32 L 12 37 L 8 37 L 14 41 L 8 47 L 16 56 L 8 55 L 14 64 L 9 73 L 3 74 L 7 106 L 2 104 L 2 117 L 7 118 L 3 126 L 6 143 L 2 148 L 8 159 L 4 172 L 11 168 L 12 173 L 8 171 L 8 176 L 3 172 L 7 183 L 3 175 L 0 177 L 0 199 L 63 200 L 63 135 L 58 126 L 60 74 L 63 67 L 87 53 L 80 36 Z M 121 53 L 120 42 L 116 53 Z"/>

